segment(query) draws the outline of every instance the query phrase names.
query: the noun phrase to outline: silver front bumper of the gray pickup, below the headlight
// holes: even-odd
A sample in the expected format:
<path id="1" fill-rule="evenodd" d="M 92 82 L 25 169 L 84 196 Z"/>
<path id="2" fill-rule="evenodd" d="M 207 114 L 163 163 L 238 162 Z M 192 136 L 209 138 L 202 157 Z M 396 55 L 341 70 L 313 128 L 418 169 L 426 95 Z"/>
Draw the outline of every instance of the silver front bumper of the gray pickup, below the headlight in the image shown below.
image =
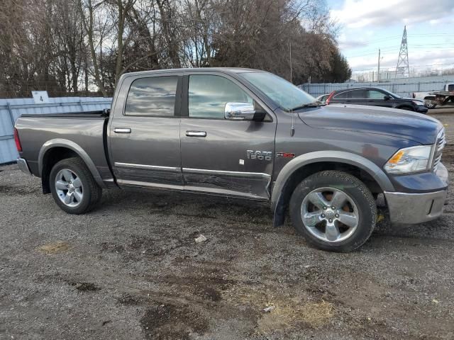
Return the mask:
<path id="1" fill-rule="evenodd" d="M 448 185 L 448 170 L 438 164 L 436 175 Z M 448 188 L 431 193 L 399 193 L 385 191 L 389 217 L 397 225 L 414 225 L 435 220 L 443 214 Z"/>

